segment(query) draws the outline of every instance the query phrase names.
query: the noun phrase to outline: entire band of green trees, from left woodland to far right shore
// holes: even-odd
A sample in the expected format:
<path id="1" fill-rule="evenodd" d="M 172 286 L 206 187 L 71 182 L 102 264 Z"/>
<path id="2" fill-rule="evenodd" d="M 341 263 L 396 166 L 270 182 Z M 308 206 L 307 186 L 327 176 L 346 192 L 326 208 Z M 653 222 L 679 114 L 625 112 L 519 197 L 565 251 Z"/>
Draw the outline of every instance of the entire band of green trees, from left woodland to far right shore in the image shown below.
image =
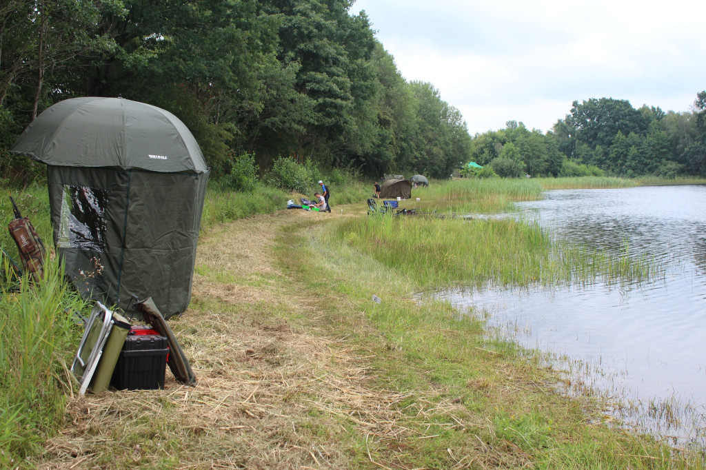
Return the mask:
<path id="1" fill-rule="evenodd" d="M 469 135 L 431 84 L 407 81 L 354 0 L 7 0 L 0 6 L 0 177 L 37 114 L 78 96 L 176 114 L 213 176 L 282 158 L 365 176 L 706 176 L 706 93 L 693 112 L 574 102 L 542 133 L 508 121 Z"/>

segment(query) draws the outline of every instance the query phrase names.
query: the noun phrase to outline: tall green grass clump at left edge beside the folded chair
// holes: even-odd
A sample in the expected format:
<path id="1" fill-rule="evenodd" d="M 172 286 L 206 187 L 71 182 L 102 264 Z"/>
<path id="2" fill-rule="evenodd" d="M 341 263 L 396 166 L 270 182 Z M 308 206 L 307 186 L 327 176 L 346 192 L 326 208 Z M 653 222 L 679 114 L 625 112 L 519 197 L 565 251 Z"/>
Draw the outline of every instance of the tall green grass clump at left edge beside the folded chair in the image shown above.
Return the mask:
<path id="1" fill-rule="evenodd" d="M 8 270 L 8 265 L 4 266 Z M 18 292 L 0 287 L 0 466 L 18 466 L 40 450 L 64 415 L 71 390 L 68 364 L 80 331 L 71 311 L 85 303 L 64 281 L 63 267 L 45 264 L 44 280 Z M 6 274 L 7 275 L 7 274 Z"/>

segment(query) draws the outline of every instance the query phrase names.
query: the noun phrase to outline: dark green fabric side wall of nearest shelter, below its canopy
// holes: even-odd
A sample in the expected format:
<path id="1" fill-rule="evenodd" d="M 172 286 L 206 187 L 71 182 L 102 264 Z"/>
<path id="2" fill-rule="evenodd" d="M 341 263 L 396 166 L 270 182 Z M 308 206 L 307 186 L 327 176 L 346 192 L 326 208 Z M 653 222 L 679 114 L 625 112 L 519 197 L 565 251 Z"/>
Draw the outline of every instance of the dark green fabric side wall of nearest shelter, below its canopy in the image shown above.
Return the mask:
<path id="1" fill-rule="evenodd" d="M 165 317 L 186 310 L 206 178 L 49 167 L 54 241 L 82 296 L 128 311 L 152 296 Z"/>

